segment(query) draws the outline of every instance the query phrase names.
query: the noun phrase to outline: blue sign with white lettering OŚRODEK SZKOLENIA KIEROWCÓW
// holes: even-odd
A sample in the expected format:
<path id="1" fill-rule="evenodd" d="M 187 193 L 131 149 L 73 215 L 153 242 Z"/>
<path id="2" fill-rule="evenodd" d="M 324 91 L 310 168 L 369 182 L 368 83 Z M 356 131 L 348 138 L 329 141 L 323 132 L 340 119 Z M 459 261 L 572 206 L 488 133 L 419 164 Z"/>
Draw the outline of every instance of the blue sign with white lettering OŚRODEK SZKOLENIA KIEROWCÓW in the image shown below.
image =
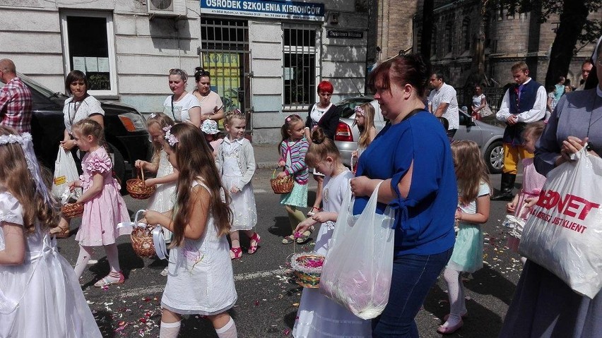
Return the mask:
<path id="1" fill-rule="evenodd" d="M 284 0 L 201 0 L 201 13 L 324 21 L 324 4 Z"/>

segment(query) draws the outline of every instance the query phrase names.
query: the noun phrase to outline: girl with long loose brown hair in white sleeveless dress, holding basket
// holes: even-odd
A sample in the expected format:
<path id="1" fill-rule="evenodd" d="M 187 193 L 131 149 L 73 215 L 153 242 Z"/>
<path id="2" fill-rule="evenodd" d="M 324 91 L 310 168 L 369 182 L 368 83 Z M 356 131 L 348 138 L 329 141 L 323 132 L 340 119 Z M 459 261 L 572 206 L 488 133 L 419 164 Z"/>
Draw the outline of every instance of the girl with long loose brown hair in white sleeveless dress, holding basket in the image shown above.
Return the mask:
<path id="1" fill-rule="evenodd" d="M 201 130 L 176 123 L 165 132 L 167 158 L 179 170 L 172 212 L 148 210 L 147 224 L 173 232 L 167 285 L 161 298 L 160 338 L 175 338 L 181 315 L 204 315 L 218 337 L 237 337 L 226 312 L 236 303 L 234 274 L 225 235 L 232 213 L 213 155 Z"/>

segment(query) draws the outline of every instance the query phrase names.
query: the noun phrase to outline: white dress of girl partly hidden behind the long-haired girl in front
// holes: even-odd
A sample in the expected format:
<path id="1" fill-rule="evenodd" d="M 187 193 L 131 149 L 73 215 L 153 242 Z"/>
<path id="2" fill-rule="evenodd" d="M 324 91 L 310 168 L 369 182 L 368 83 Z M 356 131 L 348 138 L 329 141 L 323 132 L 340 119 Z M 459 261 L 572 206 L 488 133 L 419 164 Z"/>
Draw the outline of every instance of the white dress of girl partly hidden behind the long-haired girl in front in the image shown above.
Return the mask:
<path id="1" fill-rule="evenodd" d="M 174 167 L 167 159 L 167 152 L 161 150 L 159 153 L 159 169 L 157 170 L 157 177 L 167 176 L 174 172 Z M 175 188 L 176 181 L 172 183 L 157 184 L 155 193 L 148 200 L 148 210 L 155 210 L 158 212 L 166 212 L 172 210 L 175 203 Z M 165 241 L 170 241 L 172 238 L 172 232 L 163 228 L 163 236 Z"/>

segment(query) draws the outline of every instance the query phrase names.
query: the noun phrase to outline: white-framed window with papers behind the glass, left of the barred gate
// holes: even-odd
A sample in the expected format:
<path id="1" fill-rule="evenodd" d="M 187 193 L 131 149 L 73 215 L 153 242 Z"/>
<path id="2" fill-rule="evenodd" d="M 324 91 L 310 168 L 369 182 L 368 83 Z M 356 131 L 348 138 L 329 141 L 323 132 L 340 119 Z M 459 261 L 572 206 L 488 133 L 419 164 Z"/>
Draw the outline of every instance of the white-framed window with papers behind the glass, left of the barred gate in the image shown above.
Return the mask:
<path id="1" fill-rule="evenodd" d="M 92 95 L 117 95 L 117 71 L 111 13 L 61 13 L 65 73 L 88 76 Z"/>

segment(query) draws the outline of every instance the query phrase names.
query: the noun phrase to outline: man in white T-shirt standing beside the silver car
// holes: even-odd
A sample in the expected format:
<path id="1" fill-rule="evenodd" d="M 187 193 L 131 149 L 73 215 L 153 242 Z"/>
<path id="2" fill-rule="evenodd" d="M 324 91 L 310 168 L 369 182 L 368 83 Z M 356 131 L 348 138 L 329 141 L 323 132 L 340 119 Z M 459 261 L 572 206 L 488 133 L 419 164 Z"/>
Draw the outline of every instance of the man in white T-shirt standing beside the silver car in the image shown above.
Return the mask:
<path id="1" fill-rule="evenodd" d="M 437 117 L 447 119 L 447 123 L 449 123 L 447 137 L 451 139 L 456 134 L 456 131 L 458 131 L 460 125 L 456 90 L 451 85 L 444 83 L 441 73 L 432 73 L 430 76 L 430 85 L 433 87 L 433 90 L 428 95 L 428 110 Z"/>

